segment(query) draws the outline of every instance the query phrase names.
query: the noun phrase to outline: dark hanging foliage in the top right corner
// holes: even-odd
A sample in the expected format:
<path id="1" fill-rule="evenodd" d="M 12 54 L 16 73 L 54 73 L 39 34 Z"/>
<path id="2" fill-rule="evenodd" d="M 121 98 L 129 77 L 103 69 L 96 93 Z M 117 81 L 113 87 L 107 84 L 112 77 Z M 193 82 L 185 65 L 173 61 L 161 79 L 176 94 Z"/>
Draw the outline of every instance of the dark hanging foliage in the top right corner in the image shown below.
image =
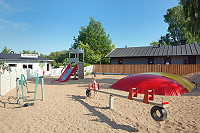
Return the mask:
<path id="1" fill-rule="evenodd" d="M 188 19 L 187 29 L 195 38 L 200 38 L 200 0 L 180 0 L 185 18 Z"/>

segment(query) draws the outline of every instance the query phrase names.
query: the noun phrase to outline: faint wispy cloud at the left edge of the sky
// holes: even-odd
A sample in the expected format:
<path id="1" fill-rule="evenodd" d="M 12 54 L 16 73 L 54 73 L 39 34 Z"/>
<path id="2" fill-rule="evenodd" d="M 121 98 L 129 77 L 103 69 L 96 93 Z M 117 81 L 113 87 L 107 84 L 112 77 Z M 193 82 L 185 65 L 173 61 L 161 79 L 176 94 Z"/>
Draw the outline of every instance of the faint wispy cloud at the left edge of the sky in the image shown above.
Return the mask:
<path id="1" fill-rule="evenodd" d="M 4 29 L 4 28 L 14 28 L 17 30 L 26 30 L 28 24 L 27 23 L 21 23 L 21 22 L 11 22 L 11 21 L 7 21 L 4 19 L 0 19 L 0 29 Z"/>

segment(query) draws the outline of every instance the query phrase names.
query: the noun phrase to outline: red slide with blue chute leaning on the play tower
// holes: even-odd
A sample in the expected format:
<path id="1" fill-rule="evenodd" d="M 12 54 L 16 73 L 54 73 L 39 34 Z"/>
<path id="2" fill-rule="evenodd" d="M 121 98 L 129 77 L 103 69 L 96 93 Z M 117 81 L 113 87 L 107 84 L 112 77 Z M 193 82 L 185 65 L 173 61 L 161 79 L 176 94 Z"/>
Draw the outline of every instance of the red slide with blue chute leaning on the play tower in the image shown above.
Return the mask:
<path id="1" fill-rule="evenodd" d="M 74 66 L 74 68 L 70 68 L 70 64 L 67 66 L 65 71 L 62 73 L 62 75 L 57 79 L 52 81 L 51 83 L 61 83 L 61 82 L 66 82 L 70 76 L 77 70 L 77 64 Z"/>

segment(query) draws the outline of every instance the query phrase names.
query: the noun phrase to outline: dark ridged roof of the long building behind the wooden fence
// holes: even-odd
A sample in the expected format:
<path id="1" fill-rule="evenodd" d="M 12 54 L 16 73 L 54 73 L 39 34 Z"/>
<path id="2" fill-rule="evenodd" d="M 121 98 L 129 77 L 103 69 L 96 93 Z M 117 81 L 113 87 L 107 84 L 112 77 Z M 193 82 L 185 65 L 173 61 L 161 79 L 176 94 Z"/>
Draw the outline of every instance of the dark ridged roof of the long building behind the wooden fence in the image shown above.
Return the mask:
<path id="1" fill-rule="evenodd" d="M 116 48 L 106 57 L 200 55 L 200 44 Z"/>

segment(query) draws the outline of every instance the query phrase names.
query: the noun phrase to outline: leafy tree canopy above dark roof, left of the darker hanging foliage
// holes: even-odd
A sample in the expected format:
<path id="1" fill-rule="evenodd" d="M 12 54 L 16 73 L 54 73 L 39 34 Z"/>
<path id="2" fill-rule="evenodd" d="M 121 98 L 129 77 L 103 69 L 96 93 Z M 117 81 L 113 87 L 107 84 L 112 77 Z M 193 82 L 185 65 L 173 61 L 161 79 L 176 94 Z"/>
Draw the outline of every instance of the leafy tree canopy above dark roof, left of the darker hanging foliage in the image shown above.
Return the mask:
<path id="1" fill-rule="evenodd" d="M 192 3 L 192 1 L 195 0 L 186 1 Z M 186 6 L 182 5 L 182 3 L 183 2 L 180 2 L 176 7 L 168 9 L 164 15 L 164 21 L 168 23 L 169 26 L 167 30 L 168 33 L 161 36 L 158 40 L 161 45 L 179 44 L 181 39 L 187 39 L 187 43 L 196 43 L 200 41 L 200 37 L 191 29 L 194 25 L 194 29 L 197 29 L 196 24 L 195 22 L 191 22 L 191 17 L 187 15 L 188 13 L 185 13 Z"/>

